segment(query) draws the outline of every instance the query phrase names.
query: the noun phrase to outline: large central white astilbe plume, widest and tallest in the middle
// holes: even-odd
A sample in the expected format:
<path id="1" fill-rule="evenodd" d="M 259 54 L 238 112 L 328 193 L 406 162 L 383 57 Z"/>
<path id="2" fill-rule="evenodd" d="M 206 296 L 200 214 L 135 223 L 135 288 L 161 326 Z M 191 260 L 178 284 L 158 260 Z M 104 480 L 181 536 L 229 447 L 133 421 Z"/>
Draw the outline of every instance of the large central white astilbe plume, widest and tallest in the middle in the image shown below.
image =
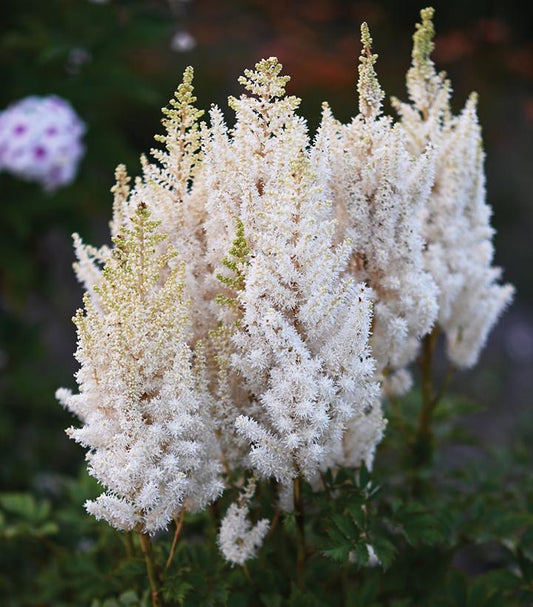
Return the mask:
<path id="1" fill-rule="evenodd" d="M 212 113 L 205 163 L 208 249 L 219 260 L 230 250 L 235 218 L 249 247 L 226 264 L 236 278 L 227 270 L 222 277 L 238 315 L 231 364 L 255 401 L 236 427 L 257 474 L 289 483 L 317 474 L 379 388 L 369 292 L 345 277 L 350 246 L 334 245 L 323 198 L 329 175 L 311 169 L 306 126 L 294 114 L 299 101 L 285 97 L 280 71 L 271 58 L 245 72 L 251 95 L 231 100 L 231 137 Z"/>

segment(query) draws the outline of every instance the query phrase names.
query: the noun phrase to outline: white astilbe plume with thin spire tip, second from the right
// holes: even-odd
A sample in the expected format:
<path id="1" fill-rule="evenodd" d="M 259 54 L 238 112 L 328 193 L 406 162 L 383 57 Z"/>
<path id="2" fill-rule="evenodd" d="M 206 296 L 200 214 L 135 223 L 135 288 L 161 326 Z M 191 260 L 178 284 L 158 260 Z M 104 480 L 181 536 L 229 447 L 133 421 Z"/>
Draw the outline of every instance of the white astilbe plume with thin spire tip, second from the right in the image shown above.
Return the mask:
<path id="1" fill-rule="evenodd" d="M 432 154 L 413 160 L 405 133 L 381 115 L 384 94 L 361 28 L 359 115 L 346 126 L 324 107 L 319 138 L 332 140 L 332 190 L 341 234 L 352 241 L 352 270 L 374 296 L 372 353 L 378 371 L 402 369 L 437 316 L 437 287 L 425 271 L 420 210 L 433 183 Z M 403 371 L 405 373 L 405 371 Z M 398 382 L 388 382 L 389 391 Z"/>

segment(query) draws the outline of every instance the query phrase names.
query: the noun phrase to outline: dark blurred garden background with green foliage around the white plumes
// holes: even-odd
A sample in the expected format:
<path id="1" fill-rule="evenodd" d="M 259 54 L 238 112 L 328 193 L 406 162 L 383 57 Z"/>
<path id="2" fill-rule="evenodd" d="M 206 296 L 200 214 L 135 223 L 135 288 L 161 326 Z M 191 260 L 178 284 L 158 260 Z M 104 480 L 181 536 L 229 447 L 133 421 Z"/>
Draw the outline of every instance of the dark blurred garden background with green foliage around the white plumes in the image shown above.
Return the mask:
<path id="1" fill-rule="evenodd" d="M 413 450 L 413 393 L 389 409 L 371 480 L 365 471 L 328 479 L 335 500 L 306 491 L 306 590 L 291 585 L 290 517 L 248 572 L 224 564 L 214 530 L 229 494 L 220 512 L 188 519 L 165 583 L 171 604 L 533 604 L 533 19 L 526 2 L 433 5 L 434 58 L 448 71 L 456 102 L 470 90 L 480 94 L 497 262 L 517 286 L 516 303 L 478 367 L 452 384 L 461 399 L 439 405 L 431 462 L 420 465 Z M 81 291 L 70 268 L 70 233 L 107 240 L 113 169 L 125 162 L 137 172 L 183 68 L 195 67 L 201 107 L 214 101 L 225 108 L 242 70 L 277 55 L 312 125 L 326 98 L 347 120 L 357 103 L 359 23 L 372 29 L 384 89 L 405 98 L 420 8 L 411 0 L 3 0 L 0 109 L 55 93 L 73 104 L 88 132 L 79 176 L 64 190 L 45 194 L 0 173 L 2 603 L 148 604 L 138 546 L 83 511 L 96 487 L 82 450 L 64 436 L 72 420 L 53 394 L 72 385 L 75 370 L 68 319 Z M 181 51 L 172 48 L 176 40 Z M 266 487 L 264 509 L 274 515 L 272 498 Z M 161 559 L 170 539 L 156 542 Z M 382 567 L 364 566 L 367 544 Z"/>

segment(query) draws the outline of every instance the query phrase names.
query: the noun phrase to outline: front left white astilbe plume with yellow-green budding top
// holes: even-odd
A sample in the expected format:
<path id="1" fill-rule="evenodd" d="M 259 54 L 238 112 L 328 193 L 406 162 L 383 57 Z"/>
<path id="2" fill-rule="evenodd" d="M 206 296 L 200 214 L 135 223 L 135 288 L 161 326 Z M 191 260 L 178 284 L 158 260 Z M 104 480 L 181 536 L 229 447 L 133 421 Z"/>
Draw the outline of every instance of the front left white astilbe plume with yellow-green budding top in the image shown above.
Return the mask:
<path id="1" fill-rule="evenodd" d="M 187 345 L 183 270 L 140 204 L 75 316 L 79 394 L 57 397 L 83 422 L 68 434 L 88 447 L 106 488 L 87 510 L 118 529 L 153 533 L 220 491 L 211 398 Z M 81 245 L 79 245 L 81 246 Z"/>

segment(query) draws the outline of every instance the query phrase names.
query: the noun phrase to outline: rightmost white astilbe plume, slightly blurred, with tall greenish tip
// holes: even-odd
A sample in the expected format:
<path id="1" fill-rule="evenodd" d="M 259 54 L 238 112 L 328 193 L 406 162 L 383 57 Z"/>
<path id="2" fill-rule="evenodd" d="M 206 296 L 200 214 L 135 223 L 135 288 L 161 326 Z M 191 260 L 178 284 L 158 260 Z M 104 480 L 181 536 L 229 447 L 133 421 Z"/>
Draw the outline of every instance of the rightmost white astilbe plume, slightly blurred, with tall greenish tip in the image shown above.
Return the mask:
<path id="1" fill-rule="evenodd" d="M 412 151 L 419 154 L 428 143 L 434 149 L 435 183 L 423 214 L 425 267 L 439 287 L 438 323 L 450 360 L 468 368 L 511 301 L 513 287 L 498 284 L 501 270 L 492 266 L 494 230 L 486 203 L 477 97 L 471 95 L 463 111 L 452 115 L 450 83 L 430 58 L 433 9 L 424 9 L 421 17 L 407 74 L 411 105 L 393 104 Z"/>

